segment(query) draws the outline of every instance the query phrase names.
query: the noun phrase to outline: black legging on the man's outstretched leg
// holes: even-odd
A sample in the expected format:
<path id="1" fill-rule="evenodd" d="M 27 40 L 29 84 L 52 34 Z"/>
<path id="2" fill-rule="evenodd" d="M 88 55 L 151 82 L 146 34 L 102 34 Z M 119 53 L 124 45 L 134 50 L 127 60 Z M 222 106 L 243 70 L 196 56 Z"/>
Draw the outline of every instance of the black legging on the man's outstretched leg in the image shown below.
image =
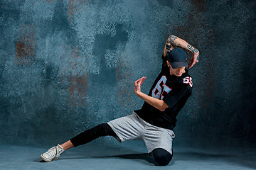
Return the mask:
<path id="1" fill-rule="evenodd" d="M 91 128 L 90 130 L 85 130 L 85 132 L 81 132 L 79 135 L 73 137 L 70 141 L 72 142 L 74 147 L 78 147 L 79 145 L 87 144 L 88 142 L 91 142 L 92 140 L 103 136 L 117 137 L 110 125 L 108 125 L 107 123 L 102 123 L 95 126 L 94 128 Z"/>

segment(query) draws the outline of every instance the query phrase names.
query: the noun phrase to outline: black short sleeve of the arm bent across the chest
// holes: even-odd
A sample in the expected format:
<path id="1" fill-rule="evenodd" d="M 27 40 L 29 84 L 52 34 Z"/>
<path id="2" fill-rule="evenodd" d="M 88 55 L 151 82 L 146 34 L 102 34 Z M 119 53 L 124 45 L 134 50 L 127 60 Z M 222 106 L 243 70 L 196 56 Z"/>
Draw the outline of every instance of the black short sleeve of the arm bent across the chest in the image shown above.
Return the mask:
<path id="1" fill-rule="evenodd" d="M 178 101 L 181 100 L 181 98 L 188 98 L 191 96 L 191 91 L 191 86 L 188 84 L 181 84 L 180 88 L 171 90 L 169 94 L 164 97 L 163 101 L 167 106 L 169 106 L 169 108 L 172 108 L 176 103 L 178 103 Z"/>

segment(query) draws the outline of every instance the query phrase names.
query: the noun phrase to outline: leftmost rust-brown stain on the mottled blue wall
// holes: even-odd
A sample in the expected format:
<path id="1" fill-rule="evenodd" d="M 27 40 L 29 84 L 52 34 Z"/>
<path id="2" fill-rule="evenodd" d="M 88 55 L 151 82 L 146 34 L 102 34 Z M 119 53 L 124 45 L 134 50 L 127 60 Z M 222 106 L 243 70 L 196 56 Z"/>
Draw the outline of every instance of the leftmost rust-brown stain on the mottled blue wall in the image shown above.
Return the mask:
<path id="1" fill-rule="evenodd" d="M 16 63 L 32 64 L 36 57 L 36 26 L 23 25 L 16 42 Z"/>

